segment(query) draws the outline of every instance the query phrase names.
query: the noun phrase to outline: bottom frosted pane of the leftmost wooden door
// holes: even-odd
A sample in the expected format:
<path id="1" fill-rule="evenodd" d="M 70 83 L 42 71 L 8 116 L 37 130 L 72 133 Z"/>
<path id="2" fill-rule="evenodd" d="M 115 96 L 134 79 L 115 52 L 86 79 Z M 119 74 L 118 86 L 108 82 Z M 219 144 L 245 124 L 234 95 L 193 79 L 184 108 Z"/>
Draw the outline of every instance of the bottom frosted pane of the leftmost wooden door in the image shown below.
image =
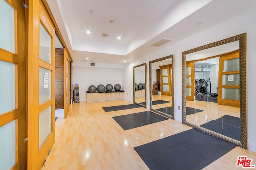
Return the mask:
<path id="1" fill-rule="evenodd" d="M 16 163 L 15 120 L 0 127 L 0 169 L 10 170 Z"/>

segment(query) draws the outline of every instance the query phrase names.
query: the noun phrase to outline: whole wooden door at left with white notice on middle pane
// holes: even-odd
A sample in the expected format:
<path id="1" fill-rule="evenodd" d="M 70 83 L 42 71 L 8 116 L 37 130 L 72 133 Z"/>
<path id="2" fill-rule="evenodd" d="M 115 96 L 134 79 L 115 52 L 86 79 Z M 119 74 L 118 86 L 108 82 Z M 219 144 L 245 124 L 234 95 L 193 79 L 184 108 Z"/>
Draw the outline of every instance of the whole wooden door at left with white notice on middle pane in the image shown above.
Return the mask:
<path id="1" fill-rule="evenodd" d="M 28 169 L 39 170 L 55 135 L 55 28 L 41 0 L 28 6 Z"/>

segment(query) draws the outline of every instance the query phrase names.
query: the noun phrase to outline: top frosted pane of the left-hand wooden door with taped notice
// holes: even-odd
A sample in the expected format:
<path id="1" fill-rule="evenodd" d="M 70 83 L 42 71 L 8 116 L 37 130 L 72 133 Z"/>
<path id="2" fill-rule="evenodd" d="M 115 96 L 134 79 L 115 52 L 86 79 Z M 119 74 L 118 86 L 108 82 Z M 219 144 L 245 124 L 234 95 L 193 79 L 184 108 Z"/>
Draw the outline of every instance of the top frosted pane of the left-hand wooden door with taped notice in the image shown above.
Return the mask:
<path id="1" fill-rule="evenodd" d="M 52 37 L 40 23 L 39 58 L 47 63 L 52 63 Z"/>

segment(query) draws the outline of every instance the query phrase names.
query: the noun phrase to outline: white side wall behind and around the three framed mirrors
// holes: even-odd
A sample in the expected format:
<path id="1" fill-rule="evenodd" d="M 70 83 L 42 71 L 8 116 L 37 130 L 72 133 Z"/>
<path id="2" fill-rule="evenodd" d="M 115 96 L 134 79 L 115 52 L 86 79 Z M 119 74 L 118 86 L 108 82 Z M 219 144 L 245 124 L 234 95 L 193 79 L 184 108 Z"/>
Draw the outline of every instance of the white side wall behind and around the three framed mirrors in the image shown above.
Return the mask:
<path id="1" fill-rule="evenodd" d="M 132 86 L 132 67 L 138 64 L 147 63 L 154 59 L 174 54 L 174 118 L 182 121 L 182 110 L 178 110 L 178 106 L 182 106 L 182 51 L 187 51 L 208 43 L 219 41 L 241 33 L 247 33 L 247 87 L 248 87 L 248 144 L 249 150 L 256 152 L 256 105 L 254 104 L 256 96 L 256 22 L 254 22 L 256 10 L 233 18 L 222 24 L 216 25 L 210 29 L 202 31 L 196 35 L 188 37 L 182 41 L 162 48 L 158 51 L 142 56 L 140 59 L 127 63 L 123 72 L 124 86 Z M 179 34 L 179 33 L 178 33 Z M 124 78 L 125 77 L 125 78 Z M 149 68 L 147 66 L 147 84 L 149 84 Z M 149 87 L 149 86 L 148 86 Z M 132 88 L 126 89 L 128 95 L 127 100 L 132 100 Z M 147 89 L 149 94 L 149 88 Z M 147 98 L 147 108 L 149 108 L 149 97 Z M 182 107 L 181 107 L 182 108 Z"/>

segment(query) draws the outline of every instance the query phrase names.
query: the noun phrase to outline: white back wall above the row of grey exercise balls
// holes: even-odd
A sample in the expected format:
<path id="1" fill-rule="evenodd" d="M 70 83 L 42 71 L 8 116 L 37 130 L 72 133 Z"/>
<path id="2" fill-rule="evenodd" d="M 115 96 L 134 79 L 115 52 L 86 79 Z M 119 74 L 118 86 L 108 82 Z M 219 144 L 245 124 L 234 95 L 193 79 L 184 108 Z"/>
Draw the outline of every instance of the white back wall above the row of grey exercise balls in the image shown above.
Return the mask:
<path id="1" fill-rule="evenodd" d="M 98 64 L 96 63 L 96 65 Z M 100 66 L 101 67 L 81 66 L 80 63 L 74 62 L 72 66 L 73 84 L 79 84 L 80 102 L 86 101 L 86 91 L 90 85 L 97 87 L 99 84 L 103 84 L 104 86 L 107 84 L 112 84 L 114 90 L 114 85 L 120 84 L 121 90 L 125 90 L 125 88 L 122 86 L 122 66 L 116 66 L 114 64 L 100 64 Z"/>

